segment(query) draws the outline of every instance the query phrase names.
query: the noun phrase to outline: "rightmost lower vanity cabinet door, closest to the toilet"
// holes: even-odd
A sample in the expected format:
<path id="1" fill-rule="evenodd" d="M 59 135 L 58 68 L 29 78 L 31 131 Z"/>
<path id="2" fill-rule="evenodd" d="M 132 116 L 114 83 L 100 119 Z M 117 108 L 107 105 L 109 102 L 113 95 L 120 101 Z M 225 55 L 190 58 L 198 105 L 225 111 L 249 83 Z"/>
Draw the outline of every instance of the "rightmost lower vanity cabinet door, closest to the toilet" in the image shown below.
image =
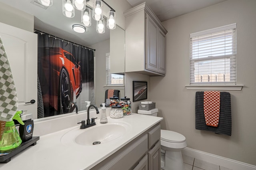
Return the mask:
<path id="1" fill-rule="evenodd" d="M 148 151 L 148 170 L 161 170 L 161 144 L 160 141 Z"/>

